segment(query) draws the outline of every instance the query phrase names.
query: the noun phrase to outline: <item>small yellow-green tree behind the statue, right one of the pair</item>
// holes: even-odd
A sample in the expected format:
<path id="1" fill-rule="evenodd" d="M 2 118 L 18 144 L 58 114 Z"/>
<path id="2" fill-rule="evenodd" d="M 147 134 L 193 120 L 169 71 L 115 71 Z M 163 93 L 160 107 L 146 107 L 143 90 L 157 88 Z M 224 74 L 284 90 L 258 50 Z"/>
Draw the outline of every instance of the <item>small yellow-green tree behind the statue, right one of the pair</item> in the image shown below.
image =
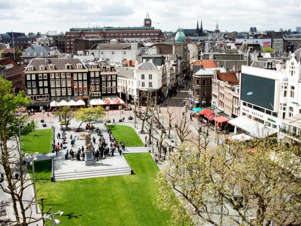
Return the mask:
<path id="1" fill-rule="evenodd" d="M 74 115 L 76 120 L 81 121 L 81 124 L 78 127 L 80 128 L 84 122 L 87 122 L 88 126 L 92 126 L 97 122 L 97 120 L 105 116 L 105 112 L 102 106 L 97 106 L 91 108 L 80 108 L 74 112 Z"/>

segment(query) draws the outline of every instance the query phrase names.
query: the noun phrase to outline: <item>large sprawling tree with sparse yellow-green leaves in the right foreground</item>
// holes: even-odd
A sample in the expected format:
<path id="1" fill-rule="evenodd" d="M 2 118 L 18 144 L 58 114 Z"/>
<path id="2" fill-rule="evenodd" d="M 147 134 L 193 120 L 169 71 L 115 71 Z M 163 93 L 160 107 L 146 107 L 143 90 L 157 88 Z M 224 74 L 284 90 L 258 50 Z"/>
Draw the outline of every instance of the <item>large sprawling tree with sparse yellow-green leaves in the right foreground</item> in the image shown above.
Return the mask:
<path id="1" fill-rule="evenodd" d="M 183 219 L 183 206 L 195 222 L 216 226 L 301 223 L 299 146 L 266 138 L 230 147 L 198 150 L 184 143 L 169 156 L 158 173 L 157 204 L 173 209 L 172 223 Z"/>

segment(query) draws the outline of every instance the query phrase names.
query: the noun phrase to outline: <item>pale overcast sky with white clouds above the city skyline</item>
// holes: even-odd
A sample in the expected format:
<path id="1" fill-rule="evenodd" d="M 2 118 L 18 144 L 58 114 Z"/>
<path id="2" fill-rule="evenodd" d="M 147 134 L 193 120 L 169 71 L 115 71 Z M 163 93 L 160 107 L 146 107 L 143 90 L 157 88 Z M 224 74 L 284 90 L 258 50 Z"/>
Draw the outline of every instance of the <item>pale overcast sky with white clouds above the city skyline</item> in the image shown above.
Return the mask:
<path id="1" fill-rule="evenodd" d="M 0 0 L 0 33 L 69 31 L 72 27 L 142 26 L 146 12 L 162 31 L 178 27 L 204 30 L 295 31 L 301 26 L 300 0 Z"/>

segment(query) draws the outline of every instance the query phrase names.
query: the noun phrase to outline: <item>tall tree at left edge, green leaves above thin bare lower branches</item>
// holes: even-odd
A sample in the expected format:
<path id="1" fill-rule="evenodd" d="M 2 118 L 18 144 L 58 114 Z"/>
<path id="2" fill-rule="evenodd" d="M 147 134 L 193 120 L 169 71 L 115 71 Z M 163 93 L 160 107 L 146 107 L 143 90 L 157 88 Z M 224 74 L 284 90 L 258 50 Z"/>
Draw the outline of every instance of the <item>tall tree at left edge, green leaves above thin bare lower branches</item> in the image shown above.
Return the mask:
<path id="1" fill-rule="evenodd" d="M 42 217 L 35 218 L 32 215 L 34 197 L 23 202 L 24 193 L 26 189 L 30 189 L 32 183 L 28 177 L 26 165 L 23 164 L 23 154 L 17 138 L 19 133 L 30 132 L 35 123 L 27 122 L 25 117 L 17 119 L 15 112 L 18 107 L 29 101 L 30 99 L 25 97 L 23 91 L 15 95 L 12 82 L 0 77 L 0 151 L 1 165 L 6 175 L 4 179 L 7 181 L 7 186 L 4 184 L 0 186 L 12 197 L 16 220 L 11 220 L 11 222 L 15 225 L 29 225 L 42 219 Z M 8 147 L 9 142 L 10 147 Z M 18 179 L 15 179 L 16 173 L 19 174 Z"/>

